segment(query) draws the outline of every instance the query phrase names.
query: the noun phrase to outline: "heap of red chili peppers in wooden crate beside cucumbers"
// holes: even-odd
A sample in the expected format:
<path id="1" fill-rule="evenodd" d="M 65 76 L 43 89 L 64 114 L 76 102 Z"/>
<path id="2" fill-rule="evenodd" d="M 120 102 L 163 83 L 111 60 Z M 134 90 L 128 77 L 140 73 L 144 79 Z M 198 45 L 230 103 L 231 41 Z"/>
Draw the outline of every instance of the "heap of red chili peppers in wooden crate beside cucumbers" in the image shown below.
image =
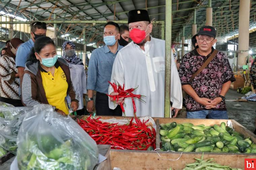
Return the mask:
<path id="1" fill-rule="evenodd" d="M 97 144 L 109 144 L 112 149 L 120 150 L 147 150 L 150 146 L 156 148 L 156 131 L 147 126 L 149 120 L 141 122 L 135 117 L 129 124 L 107 123 L 94 119 L 91 115 L 78 124 L 96 141 Z M 151 127 L 151 128 L 149 128 Z"/>

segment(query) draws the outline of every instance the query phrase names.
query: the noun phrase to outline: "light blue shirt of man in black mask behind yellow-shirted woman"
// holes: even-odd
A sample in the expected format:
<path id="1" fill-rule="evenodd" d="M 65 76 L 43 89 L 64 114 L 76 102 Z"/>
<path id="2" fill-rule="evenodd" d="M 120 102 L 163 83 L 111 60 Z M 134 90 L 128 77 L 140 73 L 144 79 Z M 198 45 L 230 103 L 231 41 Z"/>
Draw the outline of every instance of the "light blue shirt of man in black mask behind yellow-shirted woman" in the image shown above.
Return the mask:
<path id="1" fill-rule="evenodd" d="M 27 62 L 32 47 L 34 47 L 34 41 L 32 39 L 19 46 L 15 58 L 16 67 L 25 68 L 25 64 Z"/>

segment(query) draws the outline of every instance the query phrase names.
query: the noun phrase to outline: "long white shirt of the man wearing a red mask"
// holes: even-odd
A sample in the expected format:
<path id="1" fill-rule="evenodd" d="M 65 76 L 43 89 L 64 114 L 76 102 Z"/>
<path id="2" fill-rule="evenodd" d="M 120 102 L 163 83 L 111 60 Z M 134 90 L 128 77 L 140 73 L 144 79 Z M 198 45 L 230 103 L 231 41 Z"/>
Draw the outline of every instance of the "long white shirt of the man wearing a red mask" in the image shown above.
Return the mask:
<path id="1" fill-rule="evenodd" d="M 172 53 L 171 53 L 172 54 Z M 125 84 L 125 89 L 136 88 L 134 94 L 147 96 L 146 103 L 134 98 L 137 116 L 164 117 L 164 74 L 165 41 L 151 37 L 146 42 L 145 51 L 133 42 L 122 48 L 114 61 L 111 82 Z M 108 94 L 113 92 L 109 86 Z M 171 55 L 171 101 L 172 107 L 182 108 L 182 88 L 173 54 Z M 109 99 L 109 108 L 116 104 Z M 131 98 L 125 99 L 125 114 L 133 116 Z"/>

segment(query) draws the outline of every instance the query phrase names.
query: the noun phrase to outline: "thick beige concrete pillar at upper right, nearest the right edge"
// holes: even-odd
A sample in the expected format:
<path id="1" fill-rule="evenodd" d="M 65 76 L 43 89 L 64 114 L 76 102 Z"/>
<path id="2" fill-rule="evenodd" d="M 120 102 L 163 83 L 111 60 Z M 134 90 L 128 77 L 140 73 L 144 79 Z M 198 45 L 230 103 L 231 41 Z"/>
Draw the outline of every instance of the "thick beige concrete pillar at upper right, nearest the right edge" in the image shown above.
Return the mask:
<path id="1" fill-rule="evenodd" d="M 239 35 L 238 35 L 238 68 L 246 65 L 249 50 L 249 19 L 250 0 L 240 0 L 239 4 Z"/>

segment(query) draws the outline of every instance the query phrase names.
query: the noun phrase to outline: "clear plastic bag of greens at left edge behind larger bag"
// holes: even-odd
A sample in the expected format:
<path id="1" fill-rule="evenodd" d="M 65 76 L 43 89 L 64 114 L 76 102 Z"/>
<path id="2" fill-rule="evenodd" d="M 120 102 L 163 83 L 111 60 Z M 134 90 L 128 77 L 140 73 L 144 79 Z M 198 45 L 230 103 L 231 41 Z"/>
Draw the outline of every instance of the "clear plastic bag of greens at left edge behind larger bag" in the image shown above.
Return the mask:
<path id="1" fill-rule="evenodd" d="M 7 106 L 7 107 L 6 107 Z M 17 135 L 26 113 L 33 107 L 12 107 L 12 105 L 0 102 L 0 146 L 16 155 Z"/>

